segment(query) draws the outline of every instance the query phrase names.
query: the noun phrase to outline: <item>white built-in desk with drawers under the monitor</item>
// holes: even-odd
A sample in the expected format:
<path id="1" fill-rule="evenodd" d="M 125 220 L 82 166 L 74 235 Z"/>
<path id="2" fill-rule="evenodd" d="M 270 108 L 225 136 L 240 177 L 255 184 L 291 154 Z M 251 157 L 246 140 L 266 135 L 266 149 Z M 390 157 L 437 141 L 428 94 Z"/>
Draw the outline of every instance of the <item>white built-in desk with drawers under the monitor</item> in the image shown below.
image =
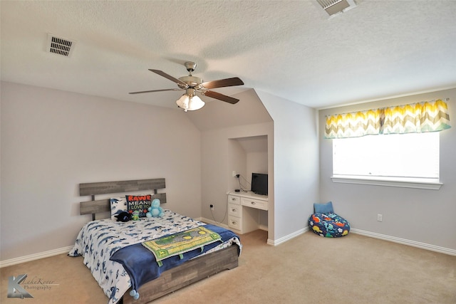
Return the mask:
<path id="1" fill-rule="evenodd" d="M 259 210 L 268 210 L 268 196 L 228 192 L 228 226 L 239 234 L 259 229 Z"/>

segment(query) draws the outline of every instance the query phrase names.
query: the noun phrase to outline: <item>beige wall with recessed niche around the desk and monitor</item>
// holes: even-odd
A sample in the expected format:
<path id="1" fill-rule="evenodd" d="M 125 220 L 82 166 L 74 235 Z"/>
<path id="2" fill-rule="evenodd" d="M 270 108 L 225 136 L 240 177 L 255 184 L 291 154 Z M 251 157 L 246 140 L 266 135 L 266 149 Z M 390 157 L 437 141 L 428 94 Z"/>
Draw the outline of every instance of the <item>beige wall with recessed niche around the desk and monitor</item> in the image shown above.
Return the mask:
<path id="1" fill-rule="evenodd" d="M 269 176 L 269 209 L 259 214 L 259 229 L 274 231 L 274 121 L 253 89 L 235 95 L 239 103 L 207 103 L 187 112 L 201 130 L 202 219 L 228 225 L 227 192 L 239 189 L 239 179 L 250 189 L 252 172 Z M 190 114 L 190 115 L 189 115 Z M 245 180 L 244 180 L 245 179 Z M 214 208 L 210 209 L 209 206 Z M 271 235 L 272 234 L 272 235 Z"/>

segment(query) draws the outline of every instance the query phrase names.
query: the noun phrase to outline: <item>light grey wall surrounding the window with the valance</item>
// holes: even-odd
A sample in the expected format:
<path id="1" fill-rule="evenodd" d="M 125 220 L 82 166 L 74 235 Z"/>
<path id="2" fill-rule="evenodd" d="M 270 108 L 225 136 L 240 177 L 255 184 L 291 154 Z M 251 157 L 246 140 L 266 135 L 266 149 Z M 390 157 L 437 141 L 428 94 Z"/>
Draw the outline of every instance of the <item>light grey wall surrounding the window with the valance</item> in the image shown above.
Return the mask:
<path id="1" fill-rule="evenodd" d="M 337 184 L 331 181 L 332 141 L 323 139 L 325 115 L 450 98 L 450 130 L 440 132 L 440 190 Z M 456 249 L 456 89 L 319 111 L 320 196 L 353 228 Z M 383 214 L 383 221 L 377 221 Z"/>

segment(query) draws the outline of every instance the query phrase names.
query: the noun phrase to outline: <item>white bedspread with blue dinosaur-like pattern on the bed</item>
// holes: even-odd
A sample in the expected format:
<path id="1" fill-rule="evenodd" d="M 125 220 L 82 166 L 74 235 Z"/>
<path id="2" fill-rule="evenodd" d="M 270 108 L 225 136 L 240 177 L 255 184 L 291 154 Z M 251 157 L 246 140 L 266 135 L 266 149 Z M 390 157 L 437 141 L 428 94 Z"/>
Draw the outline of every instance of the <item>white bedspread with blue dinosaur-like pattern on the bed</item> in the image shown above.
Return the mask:
<path id="1" fill-rule="evenodd" d="M 167 209 L 164 213 L 161 218 L 140 218 L 138 221 L 126 223 L 111 219 L 90 221 L 79 232 L 75 246 L 68 256 L 84 257 L 84 264 L 103 288 L 109 304 L 117 303 L 132 286 L 132 280 L 122 264 L 110 261 L 113 253 L 126 246 L 205 224 Z M 239 239 L 232 239 L 206 253 L 230 246 L 233 242 L 241 248 Z"/>

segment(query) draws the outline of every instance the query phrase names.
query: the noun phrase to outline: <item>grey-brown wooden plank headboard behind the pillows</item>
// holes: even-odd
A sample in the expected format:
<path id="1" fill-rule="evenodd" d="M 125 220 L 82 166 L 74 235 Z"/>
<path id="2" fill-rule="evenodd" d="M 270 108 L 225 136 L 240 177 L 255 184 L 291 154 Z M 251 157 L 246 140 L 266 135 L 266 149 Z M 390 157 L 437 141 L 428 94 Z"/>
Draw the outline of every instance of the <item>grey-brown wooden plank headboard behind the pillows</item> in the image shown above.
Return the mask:
<path id="1" fill-rule="evenodd" d="M 164 189 L 165 187 L 165 179 L 138 179 L 133 181 L 79 184 L 79 196 L 92 196 L 91 201 L 81 201 L 79 203 L 80 214 L 92 214 L 92 219 L 95 220 L 95 214 L 110 211 L 109 199 L 95 200 L 95 195 L 98 194 L 153 190 L 152 199 L 160 199 L 160 204 L 166 204 L 166 193 L 157 193 L 157 189 Z"/>

